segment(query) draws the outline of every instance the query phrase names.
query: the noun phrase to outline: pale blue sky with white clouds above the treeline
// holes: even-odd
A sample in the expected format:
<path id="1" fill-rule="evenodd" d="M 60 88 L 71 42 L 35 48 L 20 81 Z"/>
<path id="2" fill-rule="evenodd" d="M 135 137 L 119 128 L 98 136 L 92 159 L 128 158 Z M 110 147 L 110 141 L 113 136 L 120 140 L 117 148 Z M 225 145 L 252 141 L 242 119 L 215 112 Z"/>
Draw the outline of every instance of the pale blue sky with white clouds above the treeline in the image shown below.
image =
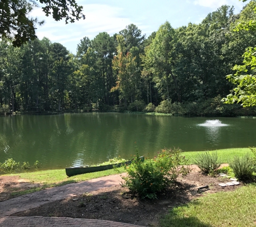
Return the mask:
<path id="1" fill-rule="evenodd" d="M 31 16 L 45 21 L 37 28 L 37 37 L 60 42 L 75 54 L 82 38 L 93 39 L 100 32 L 112 36 L 135 24 L 148 37 L 166 21 L 176 29 L 190 22 L 199 24 L 222 5 L 233 5 L 235 13 L 246 5 L 239 0 L 77 0 L 77 3 L 84 7 L 86 19 L 72 24 L 65 24 L 64 20 L 56 22 L 51 16 L 46 17 L 41 8 L 33 9 Z"/>

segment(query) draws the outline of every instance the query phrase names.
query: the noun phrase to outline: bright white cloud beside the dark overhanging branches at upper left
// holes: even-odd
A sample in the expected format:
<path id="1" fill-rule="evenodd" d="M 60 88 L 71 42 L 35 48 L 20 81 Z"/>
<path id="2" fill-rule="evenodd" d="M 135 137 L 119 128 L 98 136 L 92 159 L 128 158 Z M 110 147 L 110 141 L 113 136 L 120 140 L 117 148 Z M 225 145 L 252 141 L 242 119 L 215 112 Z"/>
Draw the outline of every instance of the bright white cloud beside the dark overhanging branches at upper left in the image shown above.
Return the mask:
<path id="1" fill-rule="evenodd" d="M 30 16 L 45 20 L 44 25 L 38 27 L 37 36 L 49 38 L 65 44 L 70 41 L 79 41 L 83 37 L 94 38 L 100 32 L 110 35 L 118 33 L 127 25 L 134 23 L 129 18 L 123 17 L 123 9 L 109 5 L 88 4 L 84 5 L 85 20 L 80 19 L 72 24 L 65 24 L 64 20 L 56 22 L 51 16 L 46 17 L 40 8 L 34 9 Z"/>

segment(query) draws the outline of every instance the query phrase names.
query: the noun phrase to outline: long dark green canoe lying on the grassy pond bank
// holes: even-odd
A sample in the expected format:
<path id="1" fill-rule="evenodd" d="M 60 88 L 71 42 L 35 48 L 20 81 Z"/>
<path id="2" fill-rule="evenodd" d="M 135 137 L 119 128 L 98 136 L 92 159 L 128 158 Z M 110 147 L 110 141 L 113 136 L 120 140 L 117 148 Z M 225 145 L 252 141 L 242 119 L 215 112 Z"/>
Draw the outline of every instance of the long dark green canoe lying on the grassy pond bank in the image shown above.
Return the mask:
<path id="1" fill-rule="evenodd" d="M 144 161 L 144 156 L 140 157 Z M 124 165 L 129 165 L 132 163 L 132 160 L 118 163 L 118 164 L 111 164 L 106 166 L 92 166 L 92 167 L 73 167 L 73 168 L 66 168 L 67 176 L 74 176 L 78 174 L 84 173 L 93 173 L 98 171 L 105 171 L 107 169 L 113 169 L 114 167 L 121 167 Z"/>

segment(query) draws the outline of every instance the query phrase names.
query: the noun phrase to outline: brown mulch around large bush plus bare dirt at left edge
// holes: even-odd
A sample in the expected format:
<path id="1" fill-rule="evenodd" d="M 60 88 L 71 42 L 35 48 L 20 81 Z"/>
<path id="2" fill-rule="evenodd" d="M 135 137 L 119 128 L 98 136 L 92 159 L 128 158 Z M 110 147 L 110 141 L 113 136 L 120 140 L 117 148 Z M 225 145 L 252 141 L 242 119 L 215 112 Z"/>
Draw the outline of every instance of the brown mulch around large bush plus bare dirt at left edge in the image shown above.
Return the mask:
<path id="1" fill-rule="evenodd" d="M 18 177 L 4 179 L 0 176 L 0 180 L 0 198 L 3 198 L 3 195 L 8 196 L 3 190 L 10 191 L 13 186 L 22 186 L 20 190 L 24 187 L 26 189 L 33 187 L 30 183 L 22 182 Z M 12 216 L 95 218 L 143 226 L 159 226 L 161 216 L 177 205 L 188 203 L 205 193 L 235 190 L 242 185 L 225 188 L 218 186 L 220 182 L 229 181 L 222 177 L 212 178 L 193 171 L 184 178 L 179 177 L 177 184 L 159 194 L 157 200 L 140 200 L 120 185 L 68 197 Z M 23 185 L 20 185 L 21 182 Z M 209 190 L 197 190 L 198 187 L 206 185 L 209 186 Z"/>

